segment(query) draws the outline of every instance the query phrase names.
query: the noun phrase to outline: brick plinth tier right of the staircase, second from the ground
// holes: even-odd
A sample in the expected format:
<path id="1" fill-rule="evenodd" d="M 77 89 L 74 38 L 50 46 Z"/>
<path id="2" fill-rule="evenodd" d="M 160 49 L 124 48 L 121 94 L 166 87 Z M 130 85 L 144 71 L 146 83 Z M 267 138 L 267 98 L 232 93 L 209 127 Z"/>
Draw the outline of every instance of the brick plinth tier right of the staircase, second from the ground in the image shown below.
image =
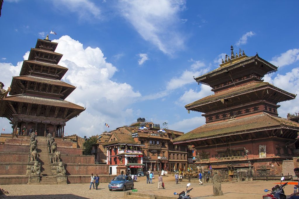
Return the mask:
<path id="1" fill-rule="evenodd" d="M 76 168 L 77 167 L 77 168 Z M 77 170 L 78 169 L 78 170 Z M 66 175 L 108 175 L 109 165 L 107 164 L 65 164 Z"/>

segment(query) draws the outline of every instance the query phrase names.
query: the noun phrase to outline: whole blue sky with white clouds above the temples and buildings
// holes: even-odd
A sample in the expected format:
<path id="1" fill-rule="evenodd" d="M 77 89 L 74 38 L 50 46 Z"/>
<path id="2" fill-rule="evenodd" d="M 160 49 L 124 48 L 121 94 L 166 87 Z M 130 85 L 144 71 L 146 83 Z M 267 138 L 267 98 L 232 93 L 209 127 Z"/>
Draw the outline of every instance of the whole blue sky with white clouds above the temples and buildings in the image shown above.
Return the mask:
<path id="1" fill-rule="evenodd" d="M 86 107 L 67 122 L 68 135 L 91 136 L 137 118 L 167 122 L 182 132 L 201 126 L 202 113 L 184 108 L 212 94 L 199 76 L 219 67 L 230 46 L 279 66 L 265 76 L 299 93 L 299 1 L 4 0 L 0 17 L 0 81 L 18 76 L 37 38 L 57 35 L 66 100 Z M 298 98 L 278 113 L 299 111 Z M 107 123 L 110 128 L 104 126 Z M 10 132 L 6 118 L 0 126 Z"/>

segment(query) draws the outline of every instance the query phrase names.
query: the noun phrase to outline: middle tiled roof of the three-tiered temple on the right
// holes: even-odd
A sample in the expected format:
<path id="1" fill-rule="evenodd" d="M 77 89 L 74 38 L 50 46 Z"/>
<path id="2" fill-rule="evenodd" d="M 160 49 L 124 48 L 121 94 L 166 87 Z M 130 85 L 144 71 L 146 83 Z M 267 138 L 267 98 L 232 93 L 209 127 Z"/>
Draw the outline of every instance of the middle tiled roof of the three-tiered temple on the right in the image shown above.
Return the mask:
<path id="1" fill-rule="evenodd" d="M 229 98 L 229 97 L 232 97 L 234 96 L 235 94 L 242 94 L 242 93 L 245 93 L 245 92 L 250 92 L 251 90 L 255 90 L 255 89 L 259 89 L 259 88 L 262 88 L 262 87 L 270 87 L 270 88 L 273 88 L 275 90 L 279 90 L 280 92 L 283 92 L 289 96 L 291 96 L 292 98 L 295 98 L 295 95 L 292 94 L 292 93 L 289 93 L 289 92 L 286 92 L 284 90 L 281 90 L 277 87 L 274 87 L 273 85 L 269 84 L 268 82 L 260 82 L 260 81 L 256 81 L 256 82 L 253 82 L 253 83 L 250 83 L 250 84 L 246 84 L 246 85 L 242 85 L 242 86 L 238 86 L 238 87 L 232 87 L 228 90 L 224 90 L 222 92 L 217 92 L 213 95 L 209 95 L 207 97 L 204 97 L 200 100 L 197 100 L 195 102 L 192 102 L 190 104 L 187 104 L 185 106 L 186 109 L 190 109 L 192 108 L 193 106 L 199 106 L 200 104 L 202 103 L 212 103 L 214 101 L 219 101 L 223 98 Z"/>

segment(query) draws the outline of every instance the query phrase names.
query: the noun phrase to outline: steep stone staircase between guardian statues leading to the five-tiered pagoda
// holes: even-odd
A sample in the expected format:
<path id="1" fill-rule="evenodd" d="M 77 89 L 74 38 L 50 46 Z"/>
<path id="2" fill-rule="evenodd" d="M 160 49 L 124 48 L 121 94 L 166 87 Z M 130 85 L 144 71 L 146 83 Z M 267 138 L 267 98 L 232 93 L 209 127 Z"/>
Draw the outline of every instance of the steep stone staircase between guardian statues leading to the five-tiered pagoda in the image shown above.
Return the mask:
<path id="1" fill-rule="evenodd" d="M 52 175 L 49 147 L 46 137 L 37 138 L 37 152 L 41 163 L 40 184 L 57 184 L 56 175 Z"/>

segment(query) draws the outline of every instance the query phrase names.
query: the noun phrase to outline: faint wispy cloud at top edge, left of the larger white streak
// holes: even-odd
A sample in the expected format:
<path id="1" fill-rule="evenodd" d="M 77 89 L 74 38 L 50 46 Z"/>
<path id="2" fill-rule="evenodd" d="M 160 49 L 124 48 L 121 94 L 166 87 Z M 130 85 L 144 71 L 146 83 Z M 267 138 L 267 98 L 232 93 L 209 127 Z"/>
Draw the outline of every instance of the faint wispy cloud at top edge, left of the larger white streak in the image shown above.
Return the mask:
<path id="1" fill-rule="evenodd" d="M 57 9 L 68 9 L 71 12 L 77 13 L 80 19 L 90 20 L 91 18 L 101 19 L 100 7 L 90 0 L 54 0 L 54 6 Z M 92 20 L 93 21 L 93 20 Z"/>

